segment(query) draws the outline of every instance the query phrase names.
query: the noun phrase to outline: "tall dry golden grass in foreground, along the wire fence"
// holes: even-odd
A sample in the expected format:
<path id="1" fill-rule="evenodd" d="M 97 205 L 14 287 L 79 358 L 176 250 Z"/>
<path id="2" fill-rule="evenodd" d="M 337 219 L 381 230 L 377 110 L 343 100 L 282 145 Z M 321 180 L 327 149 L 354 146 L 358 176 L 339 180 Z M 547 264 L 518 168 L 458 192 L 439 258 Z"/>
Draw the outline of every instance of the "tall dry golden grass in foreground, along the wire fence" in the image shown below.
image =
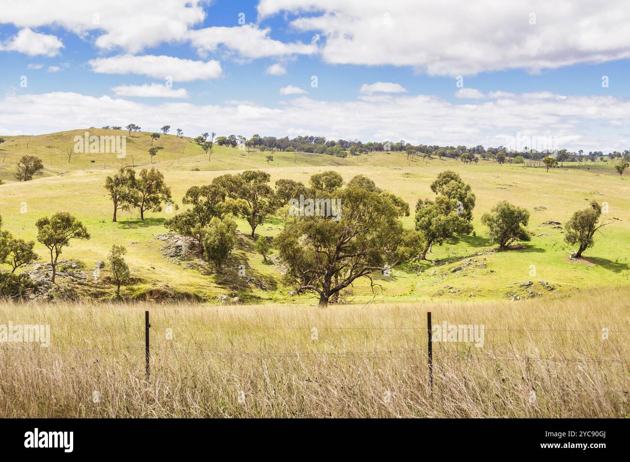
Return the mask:
<path id="1" fill-rule="evenodd" d="M 628 417 L 629 296 L 327 309 L 4 303 L 0 324 L 50 324 L 52 343 L 0 344 L 0 417 Z M 427 311 L 433 324 L 486 329 L 483 348 L 433 344 L 432 395 Z"/>

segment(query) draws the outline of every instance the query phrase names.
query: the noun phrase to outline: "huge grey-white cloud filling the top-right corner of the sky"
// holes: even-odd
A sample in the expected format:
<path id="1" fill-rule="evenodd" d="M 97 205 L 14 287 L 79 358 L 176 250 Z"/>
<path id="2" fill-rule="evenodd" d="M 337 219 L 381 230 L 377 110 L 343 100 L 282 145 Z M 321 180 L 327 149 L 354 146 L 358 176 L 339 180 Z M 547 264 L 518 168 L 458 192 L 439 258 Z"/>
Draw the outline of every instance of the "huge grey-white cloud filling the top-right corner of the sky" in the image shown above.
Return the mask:
<path id="1" fill-rule="evenodd" d="M 626 0 L 258 4 L 263 18 L 281 12 L 298 16 L 290 24 L 300 32 L 323 35 L 321 55 L 332 64 L 412 66 L 430 75 L 458 76 L 500 69 L 537 72 L 630 57 Z"/>

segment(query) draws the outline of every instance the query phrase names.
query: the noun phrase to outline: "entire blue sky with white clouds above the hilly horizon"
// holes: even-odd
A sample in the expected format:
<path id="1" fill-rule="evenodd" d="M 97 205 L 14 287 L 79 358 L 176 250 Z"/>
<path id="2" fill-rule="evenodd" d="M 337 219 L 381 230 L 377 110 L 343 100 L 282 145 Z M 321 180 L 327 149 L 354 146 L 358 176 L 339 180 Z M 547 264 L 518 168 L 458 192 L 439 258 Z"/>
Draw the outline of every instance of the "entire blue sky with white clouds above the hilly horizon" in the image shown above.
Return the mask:
<path id="1" fill-rule="evenodd" d="M 630 147 L 622 1 L 5 3 L 0 134 L 134 122 L 191 136 Z"/>

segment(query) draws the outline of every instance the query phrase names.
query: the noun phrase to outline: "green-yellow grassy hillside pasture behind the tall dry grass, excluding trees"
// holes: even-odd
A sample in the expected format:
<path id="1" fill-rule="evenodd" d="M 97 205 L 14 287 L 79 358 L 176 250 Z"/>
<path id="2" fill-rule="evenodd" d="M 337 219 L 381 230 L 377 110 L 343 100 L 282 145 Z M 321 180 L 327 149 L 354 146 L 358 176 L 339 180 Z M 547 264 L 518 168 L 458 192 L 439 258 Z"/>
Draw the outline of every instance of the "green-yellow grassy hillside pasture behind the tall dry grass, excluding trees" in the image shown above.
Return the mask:
<path id="1" fill-rule="evenodd" d="M 163 226 L 169 217 L 167 212 L 149 213 L 144 221 L 138 219 L 137 211 L 119 212 L 119 221 L 113 223 L 112 204 L 103 188 L 105 178 L 120 165 L 134 165 L 137 170 L 150 167 L 150 134 L 140 132 L 128 137 L 125 159 L 117 159 L 115 154 L 74 154 L 68 162 L 66 149 L 74 145 L 74 136 L 82 136 L 85 131 L 5 137 L 6 142 L 0 145 L 0 178 L 5 182 L 0 185 L 0 215 L 4 228 L 14 236 L 34 240 L 38 218 L 67 211 L 83 221 L 92 238 L 72 242 L 62 258 L 79 260 L 89 269 L 99 260 L 106 260 L 114 243 L 127 246 L 128 262 L 137 277 L 134 286 L 127 289 L 129 296 L 158 298 L 163 292 L 171 292 L 214 299 L 227 294 L 249 303 L 316 303 L 307 296 L 289 294 L 292 289 L 280 282 L 278 262 L 265 263 L 253 251 L 247 236 L 249 226 L 244 221 L 239 221 L 242 235 L 226 265 L 227 275 L 212 274 L 195 261 L 175 261 L 162 255 L 164 241 L 156 236 L 167 231 Z M 128 135 L 123 130 L 88 131 L 96 135 Z M 379 187 L 403 197 L 413 210 L 418 199 L 433 196 L 429 185 L 440 171 L 459 173 L 477 197 L 475 234 L 435 246 L 428 255 L 435 263 L 397 268 L 392 277 L 377 276 L 382 291 L 376 296 L 367 282 L 355 284 L 349 299 L 357 303 L 372 299 L 507 299 L 515 295 L 529 297 L 529 291 L 546 297 L 547 289 L 539 281 L 555 290 L 571 291 L 621 286 L 630 280 L 629 183 L 627 176 L 620 177 L 609 166 L 590 170 L 558 168 L 547 173 L 544 168 L 500 166 L 493 161 L 479 161 L 479 165 L 437 158 L 408 161 L 404 153 L 371 153 L 345 159 L 324 154 L 273 153 L 273 162 L 267 163 L 268 152 L 247 153 L 229 147 L 216 146 L 209 157 L 192 139 L 175 135 L 161 135 L 154 145 L 163 149 L 153 159 L 153 166 L 164 173 L 173 198 L 180 205 L 186 189 L 207 184 L 227 171 L 260 169 L 270 173 L 272 183 L 279 178 L 307 183 L 314 173 L 335 170 L 346 182 L 360 173 L 370 176 Z M 42 158 L 43 176 L 30 182 L 14 182 L 14 165 L 27 153 Z M 533 236 L 518 250 L 497 252 L 486 239 L 487 229 L 480 217 L 503 199 L 530 211 L 528 229 Z M 543 223 L 564 223 L 574 211 L 587 207 L 591 199 L 608 203 L 609 213 L 604 219 L 612 224 L 596 236 L 597 243 L 585 252 L 584 260 L 569 260 L 566 252 L 570 246 L 563 241 L 563 230 Z M 404 219 L 404 224 L 413 227 L 413 214 Z M 281 228 L 281 220 L 272 217 L 256 233 L 271 236 Z M 38 244 L 36 250 L 43 260 L 45 248 Z M 248 275 L 263 282 L 267 289 L 239 280 L 239 264 L 246 265 Z M 461 270 L 451 272 L 460 267 Z M 529 291 L 518 285 L 527 281 L 534 282 Z M 105 292 L 112 291 L 106 284 L 103 287 Z"/>

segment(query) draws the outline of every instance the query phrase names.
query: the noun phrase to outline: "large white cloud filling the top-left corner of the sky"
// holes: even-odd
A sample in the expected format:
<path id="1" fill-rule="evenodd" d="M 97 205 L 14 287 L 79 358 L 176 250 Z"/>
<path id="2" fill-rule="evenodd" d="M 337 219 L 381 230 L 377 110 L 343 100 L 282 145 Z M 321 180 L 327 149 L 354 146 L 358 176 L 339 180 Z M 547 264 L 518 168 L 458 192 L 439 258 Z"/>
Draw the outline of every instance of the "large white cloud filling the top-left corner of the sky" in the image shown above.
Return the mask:
<path id="1" fill-rule="evenodd" d="M 188 28 L 201 23 L 201 0 L 3 0 L 0 23 L 17 27 L 62 26 L 80 37 L 98 35 L 101 49 L 121 47 L 137 53 L 159 43 L 185 40 Z M 90 38 L 90 37 L 88 37 Z"/>

